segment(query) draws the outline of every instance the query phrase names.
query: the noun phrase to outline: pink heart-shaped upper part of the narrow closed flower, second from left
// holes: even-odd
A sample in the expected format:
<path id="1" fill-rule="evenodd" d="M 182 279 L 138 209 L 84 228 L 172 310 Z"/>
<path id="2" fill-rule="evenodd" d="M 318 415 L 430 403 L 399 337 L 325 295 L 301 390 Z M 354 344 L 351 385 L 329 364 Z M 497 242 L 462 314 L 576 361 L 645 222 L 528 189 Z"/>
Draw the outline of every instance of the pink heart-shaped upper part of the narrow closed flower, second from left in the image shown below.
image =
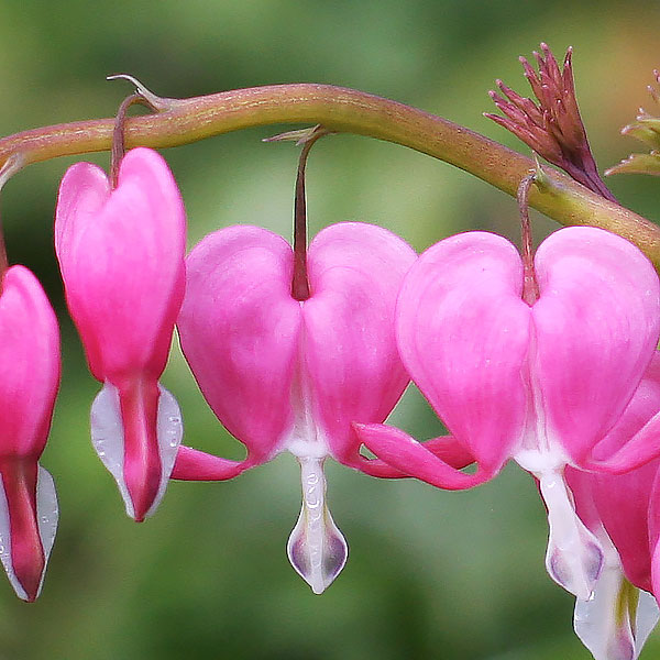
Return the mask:
<path id="1" fill-rule="evenodd" d="M 165 161 L 135 148 L 118 187 L 78 163 L 65 174 L 55 217 L 55 249 L 69 310 L 99 380 L 165 367 L 184 295 L 184 205 Z"/>

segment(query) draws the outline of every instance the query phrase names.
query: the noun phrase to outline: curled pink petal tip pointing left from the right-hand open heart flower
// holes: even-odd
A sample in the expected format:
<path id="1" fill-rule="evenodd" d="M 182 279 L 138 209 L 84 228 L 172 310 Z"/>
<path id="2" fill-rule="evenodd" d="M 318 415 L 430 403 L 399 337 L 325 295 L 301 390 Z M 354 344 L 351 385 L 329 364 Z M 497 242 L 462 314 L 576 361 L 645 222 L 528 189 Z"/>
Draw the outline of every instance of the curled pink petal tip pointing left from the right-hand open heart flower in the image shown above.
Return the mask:
<path id="1" fill-rule="evenodd" d="M 483 484 L 495 476 L 495 471 L 484 470 L 481 465 L 474 474 L 460 472 L 397 428 L 383 424 L 353 426 L 360 442 L 378 459 L 432 486 L 460 491 Z"/>

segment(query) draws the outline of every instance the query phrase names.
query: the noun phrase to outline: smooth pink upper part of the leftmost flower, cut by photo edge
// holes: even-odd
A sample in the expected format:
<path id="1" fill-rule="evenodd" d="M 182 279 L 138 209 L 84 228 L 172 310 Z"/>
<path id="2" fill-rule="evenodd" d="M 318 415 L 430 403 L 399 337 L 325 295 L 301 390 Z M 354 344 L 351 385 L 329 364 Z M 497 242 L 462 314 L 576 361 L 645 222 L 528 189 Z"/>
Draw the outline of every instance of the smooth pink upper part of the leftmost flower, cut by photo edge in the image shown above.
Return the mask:
<path id="1" fill-rule="evenodd" d="M 59 385 L 59 332 L 44 290 L 23 266 L 0 295 L 0 459 L 44 450 Z"/>

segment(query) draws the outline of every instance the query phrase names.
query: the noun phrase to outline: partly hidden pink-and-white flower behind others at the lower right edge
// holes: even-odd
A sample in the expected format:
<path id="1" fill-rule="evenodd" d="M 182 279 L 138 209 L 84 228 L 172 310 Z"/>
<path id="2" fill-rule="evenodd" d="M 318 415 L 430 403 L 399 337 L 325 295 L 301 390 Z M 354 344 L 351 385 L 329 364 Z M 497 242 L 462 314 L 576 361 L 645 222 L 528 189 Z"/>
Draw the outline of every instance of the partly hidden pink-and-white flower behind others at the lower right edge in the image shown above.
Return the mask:
<path id="1" fill-rule="evenodd" d="M 619 450 L 660 410 L 660 353 L 656 352 L 632 400 L 594 448 L 606 457 Z M 658 544 L 652 503 L 660 459 L 625 474 L 566 468 L 566 482 L 582 521 L 598 538 L 603 571 L 592 597 L 575 602 L 575 632 L 596 660 L 635 660 L 658 623 L 652 561 Z"/>

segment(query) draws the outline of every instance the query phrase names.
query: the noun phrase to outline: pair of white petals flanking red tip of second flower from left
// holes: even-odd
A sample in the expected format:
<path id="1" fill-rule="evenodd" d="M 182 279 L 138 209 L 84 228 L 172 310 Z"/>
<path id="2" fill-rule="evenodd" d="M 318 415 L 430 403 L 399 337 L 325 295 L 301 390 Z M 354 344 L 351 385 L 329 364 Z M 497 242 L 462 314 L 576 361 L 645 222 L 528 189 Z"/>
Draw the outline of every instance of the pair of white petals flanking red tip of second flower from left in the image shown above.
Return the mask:
<path id="1" fill-rule="evenodd" d="M 174 469 L 176 454 L 180 444 L 184 426 L 182 413 L 176 399 L 167 389 L 158 384 L 158 410 L 156 419 L 158 452 L 161 455 L 161 483 L 158 494 L 150 507 L 146 516 L 151 516 L 157 508 L 167 488 L 169 475 Z M 124 432 L 119 404 L 119 391 L 111 383 L 106 382 L 101 392 L 91 405 L 91 443 L 101 459 L 101 462 L 112 474 L 119 492 L 127 507 L 127 515 L 135 517 L 133 502 L 127 487 L 124 464 Z"/>

